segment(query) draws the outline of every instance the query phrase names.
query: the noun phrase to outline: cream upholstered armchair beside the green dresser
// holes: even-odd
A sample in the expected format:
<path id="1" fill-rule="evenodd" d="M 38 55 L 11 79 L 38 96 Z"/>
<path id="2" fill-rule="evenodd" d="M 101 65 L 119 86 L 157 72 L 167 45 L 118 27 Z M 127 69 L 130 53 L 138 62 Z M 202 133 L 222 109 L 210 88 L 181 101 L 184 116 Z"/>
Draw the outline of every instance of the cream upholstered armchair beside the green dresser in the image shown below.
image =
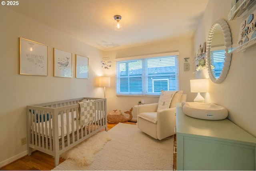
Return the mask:
<path id="1" fill-rule="evenodd" d="M 176 103 L 186 101 L 187 95 L 178 91 L 172 97 L 169 108 L 158 109 L 158 103 L 138 105 L 137 125 L 144 133 L 155 139 L 164 139 L 174 135 L 176 126 Z M 160 96 L 161 97 L 161 96 Z"/>

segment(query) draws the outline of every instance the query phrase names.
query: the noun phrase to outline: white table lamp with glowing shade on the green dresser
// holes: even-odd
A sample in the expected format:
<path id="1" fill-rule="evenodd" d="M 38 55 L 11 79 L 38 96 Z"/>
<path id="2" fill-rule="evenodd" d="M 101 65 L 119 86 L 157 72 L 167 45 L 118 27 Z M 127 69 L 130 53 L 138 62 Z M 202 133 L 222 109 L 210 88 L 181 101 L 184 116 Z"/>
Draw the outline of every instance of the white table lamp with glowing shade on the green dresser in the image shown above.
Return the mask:
<path id="1" fill-rule="evenodd" d="M 200 93 L 208 92 L 208 79 L 196 79 L 190 80 L 191 93 L 197 93 L 194 102 L 204 103 L 204 97 Z"/>

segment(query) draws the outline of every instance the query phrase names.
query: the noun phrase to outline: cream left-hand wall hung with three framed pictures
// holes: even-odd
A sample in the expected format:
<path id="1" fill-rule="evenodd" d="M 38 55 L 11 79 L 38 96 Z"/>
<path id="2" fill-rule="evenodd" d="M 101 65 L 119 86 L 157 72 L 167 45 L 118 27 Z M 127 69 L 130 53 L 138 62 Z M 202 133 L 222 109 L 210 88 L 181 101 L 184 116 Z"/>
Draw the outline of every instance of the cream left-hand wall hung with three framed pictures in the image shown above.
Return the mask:
<path id="1" fill-rule="evenodd" d="M 94 78 L 102 76 L 102 51 L 0 6 L 0 167 L 27 154 L 26 105 L 104 97 Z M 48 76 L 19 74 L 19 37 L 48 45 Z M 72 52 L 73 78 L 53 76 L 53 48 Z M 89 79 L 75 75 L 75 54 L 89 58 Z M 93 66 L 93 67 L 92 67 Z"/>

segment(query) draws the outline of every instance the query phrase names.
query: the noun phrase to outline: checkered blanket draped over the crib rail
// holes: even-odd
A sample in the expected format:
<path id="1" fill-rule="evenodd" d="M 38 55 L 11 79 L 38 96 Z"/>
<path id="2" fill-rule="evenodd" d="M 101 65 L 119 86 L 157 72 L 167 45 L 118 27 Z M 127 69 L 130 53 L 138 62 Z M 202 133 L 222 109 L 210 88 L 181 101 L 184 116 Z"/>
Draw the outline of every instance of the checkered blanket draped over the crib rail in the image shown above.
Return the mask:
<path id="1" fill-rule="evenodd" d="M 95 120 L 94 101 L 87 100 L 78 102 L 80 105 L 80 126 L 87 125 L 90 121 Z"/>

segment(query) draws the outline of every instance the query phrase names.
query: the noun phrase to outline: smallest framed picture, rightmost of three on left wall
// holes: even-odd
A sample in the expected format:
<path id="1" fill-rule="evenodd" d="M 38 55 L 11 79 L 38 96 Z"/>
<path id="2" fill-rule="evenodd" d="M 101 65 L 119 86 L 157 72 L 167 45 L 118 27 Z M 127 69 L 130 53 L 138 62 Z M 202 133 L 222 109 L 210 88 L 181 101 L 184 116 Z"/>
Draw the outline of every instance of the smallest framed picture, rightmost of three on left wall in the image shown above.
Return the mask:
<path id="1" fill-rule="evenodd" d="M 89 78 L 89 58 L 76 54 L 76 78 Z"/>

